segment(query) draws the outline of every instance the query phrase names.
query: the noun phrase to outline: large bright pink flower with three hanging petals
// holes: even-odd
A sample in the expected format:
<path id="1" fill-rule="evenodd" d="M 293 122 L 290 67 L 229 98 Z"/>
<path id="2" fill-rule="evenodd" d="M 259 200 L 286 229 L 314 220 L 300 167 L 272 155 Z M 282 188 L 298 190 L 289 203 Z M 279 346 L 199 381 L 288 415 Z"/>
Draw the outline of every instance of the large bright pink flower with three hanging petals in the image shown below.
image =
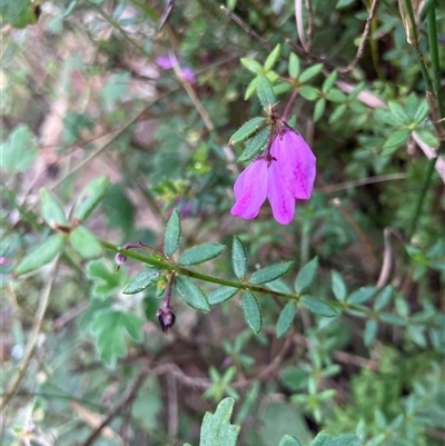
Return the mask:
<path id="1" fill-rule="evenodd" d="M 270 153 L 255 160 L 236 180 L 236 202 L 231 215 L 255 218 L 266 197 L 274 218 L 288 225 L 295 212 L 295 200 L 307 200 L 314 187 L 316 158 L 303 137 L 291 130 L 278 135 Z"/>

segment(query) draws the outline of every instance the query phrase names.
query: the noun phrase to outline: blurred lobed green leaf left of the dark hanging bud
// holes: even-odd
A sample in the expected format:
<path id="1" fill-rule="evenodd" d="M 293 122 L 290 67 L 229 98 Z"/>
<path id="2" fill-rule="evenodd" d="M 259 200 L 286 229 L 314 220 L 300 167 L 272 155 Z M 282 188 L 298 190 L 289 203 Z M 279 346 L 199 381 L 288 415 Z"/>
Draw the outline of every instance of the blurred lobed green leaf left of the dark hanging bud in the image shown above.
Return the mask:
<path id="1" fill-rule="evenodd" d="M 96 337 L 96 348 L 99 358 L 108 366 L 113 367 L 117 358 L 127 354 L 126 337 L 136 341 L 142 340 L 142 320 L 128 311 L 113 308 L 98 310 L 91 325 Z"/>

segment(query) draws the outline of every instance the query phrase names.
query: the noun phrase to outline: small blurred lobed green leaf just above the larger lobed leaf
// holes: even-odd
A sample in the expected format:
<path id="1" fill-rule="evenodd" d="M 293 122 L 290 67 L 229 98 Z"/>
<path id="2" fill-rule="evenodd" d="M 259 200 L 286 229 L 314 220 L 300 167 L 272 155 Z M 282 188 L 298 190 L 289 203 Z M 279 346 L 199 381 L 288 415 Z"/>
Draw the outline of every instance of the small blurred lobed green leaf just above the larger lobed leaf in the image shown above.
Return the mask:
<path id="1" fill-rule="evenodd" d="M 116 271 L 116 266 L 109 268 L 106 261 L 100 259 L 88 264 L 87 277 L 93 283 L 93 296 L 105 299 L 120 291 L 126 279 L 126 271 L 125 268 L 120 268 L 119 271 Z"/>

